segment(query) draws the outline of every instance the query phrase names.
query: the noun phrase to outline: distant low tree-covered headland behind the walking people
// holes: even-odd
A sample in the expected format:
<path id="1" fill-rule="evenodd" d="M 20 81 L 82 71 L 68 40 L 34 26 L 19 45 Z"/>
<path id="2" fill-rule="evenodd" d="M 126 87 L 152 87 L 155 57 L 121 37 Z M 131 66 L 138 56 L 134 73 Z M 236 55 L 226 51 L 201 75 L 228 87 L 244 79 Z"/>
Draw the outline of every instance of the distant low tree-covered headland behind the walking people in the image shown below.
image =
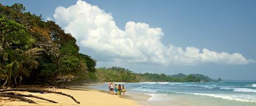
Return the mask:
<path id="1" fill-rule="evenodd" d="M 133 73 L 129 69 L 121 67 L 101 67 L 96 69 L 95 75 L 97 76 L 97 82 L 211 82 L 221 81 L 213 80 L 208 76 L 202 74 L 189 74 L 183 73 L 175 75 L 166 74 L 150 74 L 150 73 Z"/>

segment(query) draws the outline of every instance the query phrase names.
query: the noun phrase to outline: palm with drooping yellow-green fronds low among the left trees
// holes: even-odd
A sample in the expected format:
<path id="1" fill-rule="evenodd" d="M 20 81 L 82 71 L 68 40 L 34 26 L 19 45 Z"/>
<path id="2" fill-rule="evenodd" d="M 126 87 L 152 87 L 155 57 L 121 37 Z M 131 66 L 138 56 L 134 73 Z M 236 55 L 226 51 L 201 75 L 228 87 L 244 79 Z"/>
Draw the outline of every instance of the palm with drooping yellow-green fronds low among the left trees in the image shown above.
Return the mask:
<path id="1" fill-rule="evenodd" d="M 43 49 L 41 48 L 30 48 L 24 52 L 19 50 L 9 50 L 8 54 L 5 55 L 7 65 L 4 67 L 4 73 L 7 74 L 7 78 L 3 86 L 7 84 L 9 86 L 13 81 L 17 84 L 17 77 L 20 76 L 20 80 L 23 76 L 29 76 L 29 71 L 33 68 L 37 68 L 39 65 L 36 58 L 39 58 Z M 2 87 L 3 87 L 2 86 Z"/>

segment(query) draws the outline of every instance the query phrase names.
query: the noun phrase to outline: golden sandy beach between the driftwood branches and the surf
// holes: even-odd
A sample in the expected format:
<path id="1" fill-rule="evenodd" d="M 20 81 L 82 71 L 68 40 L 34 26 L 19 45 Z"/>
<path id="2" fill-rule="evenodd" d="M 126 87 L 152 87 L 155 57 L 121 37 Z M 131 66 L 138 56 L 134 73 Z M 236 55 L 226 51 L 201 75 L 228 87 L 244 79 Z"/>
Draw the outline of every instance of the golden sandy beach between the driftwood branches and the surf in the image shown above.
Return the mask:
<path id="1" fill-rule="evenodd" d="M 125 97 L 119 95 L 111 95 L 107 91 L 90 89 L 86 86 L 71 86 L 69 89 L 54 89 L 54 91 L 67 93 L 73 95 L 74 98 L 81 102 L 80 104 L 75 103 L 72 99 L 67 96 L 53 94 L 53 93 L 29 93 L 29 92 L 17 92 L 22 94 L 33 94 L 35 96 L 40 96 L 45 99 L 50 99 L 58 103 L 51 103 L 48 101 L 43 101 L 35 98 L 31 99 L 38 104 L 27 103 L 17 99 L 0 98 L 0 105 L 143 105 L 141 101 L 146 101 L 150 96 L 139 95 L 139 94 L 128 94 Z"/>

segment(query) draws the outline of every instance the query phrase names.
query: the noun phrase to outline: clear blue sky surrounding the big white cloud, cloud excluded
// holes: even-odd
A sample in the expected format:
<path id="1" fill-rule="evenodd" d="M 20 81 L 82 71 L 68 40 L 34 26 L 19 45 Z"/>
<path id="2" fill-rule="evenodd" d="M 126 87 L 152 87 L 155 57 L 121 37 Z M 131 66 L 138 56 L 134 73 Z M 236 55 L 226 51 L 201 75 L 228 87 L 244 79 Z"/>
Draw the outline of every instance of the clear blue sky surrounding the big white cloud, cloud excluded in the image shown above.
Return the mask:
<path id="1" fill-rule="evenodd" d="M 55 12 L 57 7 L 63 6 L 66 9 L 71 5 L 76 5 L 76 1 L 0 1 L 4 5 L 12 5 L 17 2 L 24 4 L 27 11 L 42 14 L 45 19 L 46 17 L 51 17 L 53 21 L 58 21 L 57 23 L 61 24 L 62 28 L 67 28 L 65 31 L 79 35 L 79 31 L 74 31 L 74 28 L 71 28 L 70 24 L 66 25 L 63 23 L 64 19 L 58 19 L 58 17 L 53 16 L 53 14 L 57 14 Z M 104 10 L 106 13 L 111 13 L 110 16 L 114 18 L 113 20 L 116 26 L 124 32 L 125 25 L 129 21 L 134 22 L 135 26 L 138 25 L 137 23 L 146 23 L 149 25 L 149 28 L 161 28 L 162 31 L 160 32 L 164 33 L 163 36 L 161 36 L 160 32 L 156 36 L 161 36 L 159 42 L 164 45 L 163 48 L 169 48 L 168 45 L 170 44 L 174 45 L 175 48 L 180 47 L 184 51 L 187 47 L 195 47 L 200 52 L 206 48 L 218 53 L 228 52 L 229 54 L 234 54 L 237 52 L 247 60 L 256 60 L 256 1 L 85 2 L 87 4 L 97 5 L 100 10 Z M 64 14 L 63 11 L 60 11 L 56 16 L 66 16 L 62 14 Z M 102 42 L 115 47 L 115 43 L 109 41 Z M 98 45 L 99 43 L 93 44 Z M 87 43 L 80 45 L 80 47 L 80 52 L 89 54 L 98 60 L 98 67 L 121 66 L 141 73 L 201 73 L 212 78 L 256 80 L 256 64 L 236 64 L 239 59 L 234 60 L 235 62 L 231 60 L 233 61 L 231 64 L 225 64 L 229 59 L 222 62 L 198 62 L 192 60 L 192 64 L 185 63 L 184 61 L 178 61 L 178 64 L 172 64 L 173 60 L 168 59 L 166 63 L 156 64 L 155 60 L 148 60 L 149 57 L 154 57 L 155 55 L 151 55 L 152 52 L 145 51 L 143 48 L 136 48 L 136 51 L 142 52 L 142 55 L 138 54 L 136 56 L 145 56 L 147 59 L 146 62 L 141 62 L 141 60 L 134 62 L 135 60 L 131 58 L 135 58 L 136 56 L 114 54 L 112 51 L 106 51 L 105 49 L 98 50 L 95 49 L 95 46 Z M 113 49 L 113 51 L 115 50 Z M 120 52 L 126 53 L 125 51 Z M 107 55 L 102 55 L 105 53 Z M 170 58 L 170 56 L 164 58 Z M 130 61 L 125 61 L 125 59 L 130 59 Z"/>

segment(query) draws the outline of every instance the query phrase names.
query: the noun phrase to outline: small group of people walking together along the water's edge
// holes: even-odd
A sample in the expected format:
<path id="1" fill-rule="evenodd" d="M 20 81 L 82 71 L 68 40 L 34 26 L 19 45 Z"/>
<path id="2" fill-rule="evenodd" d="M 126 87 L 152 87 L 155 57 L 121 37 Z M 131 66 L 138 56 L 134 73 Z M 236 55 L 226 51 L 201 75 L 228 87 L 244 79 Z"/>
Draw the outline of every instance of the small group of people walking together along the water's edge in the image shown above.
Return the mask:
<path id="1" fill-rule="evenodd" d="M 123 93 L 123 96 L 124 96 L 124 93 L 126 92 L 125 86 L 124 86 L 124 85 L 121 86 L 121 84 L 119 84 L 119 85 L 117 86 L 117 84 L 110 83 L 110 84 L 108 85 L 108 88 L 109 88 L 110 94 L 114 94 L 114 92 L 115 92 L 116 95 L 117 95 L 117 94 L 118 94 L 118 95 L 121 95 L 121 93 Z"/>

